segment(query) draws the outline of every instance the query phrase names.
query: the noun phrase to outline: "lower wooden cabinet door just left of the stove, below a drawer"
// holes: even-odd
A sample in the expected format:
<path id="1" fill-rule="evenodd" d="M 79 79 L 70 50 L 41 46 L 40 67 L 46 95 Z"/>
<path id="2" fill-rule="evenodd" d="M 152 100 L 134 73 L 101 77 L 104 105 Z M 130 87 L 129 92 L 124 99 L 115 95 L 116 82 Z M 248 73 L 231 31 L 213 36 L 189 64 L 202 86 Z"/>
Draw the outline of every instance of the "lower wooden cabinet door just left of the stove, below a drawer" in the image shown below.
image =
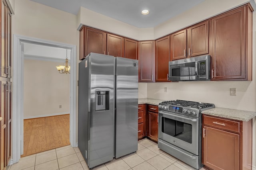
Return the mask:
<path id="1" fill-rule="evenodd" d="M 158 141 L 158 113 L 148 112 L 147 136 L 153 141 Z"/>

